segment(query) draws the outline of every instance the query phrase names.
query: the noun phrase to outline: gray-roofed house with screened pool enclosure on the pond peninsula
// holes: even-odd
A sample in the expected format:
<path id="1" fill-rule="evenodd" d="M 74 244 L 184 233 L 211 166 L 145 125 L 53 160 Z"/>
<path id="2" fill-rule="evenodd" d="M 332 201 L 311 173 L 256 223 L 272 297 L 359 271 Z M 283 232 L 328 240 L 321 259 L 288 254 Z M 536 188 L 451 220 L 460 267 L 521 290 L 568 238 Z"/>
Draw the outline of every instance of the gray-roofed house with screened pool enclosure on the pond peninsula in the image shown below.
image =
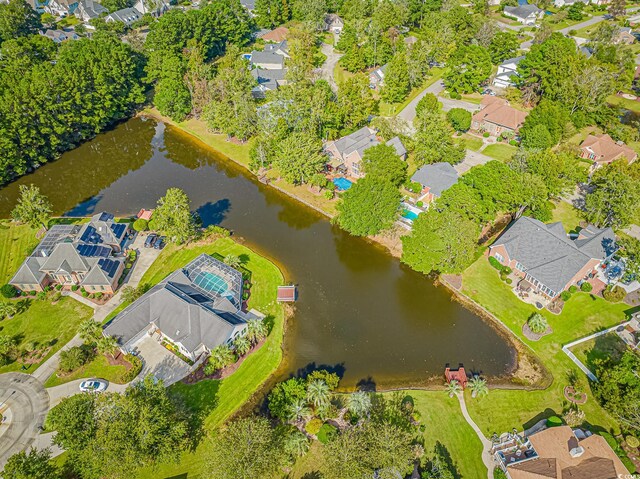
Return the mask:
<path id="1" fill-rule="evenodd" d="M 195 361 L 245 334 L 249 320 L 264 317 L 243 311 L 242 285 L 240 271 L 201 254 L 122 310 L 104 334 L 125 353 L 151 336 Z"/>

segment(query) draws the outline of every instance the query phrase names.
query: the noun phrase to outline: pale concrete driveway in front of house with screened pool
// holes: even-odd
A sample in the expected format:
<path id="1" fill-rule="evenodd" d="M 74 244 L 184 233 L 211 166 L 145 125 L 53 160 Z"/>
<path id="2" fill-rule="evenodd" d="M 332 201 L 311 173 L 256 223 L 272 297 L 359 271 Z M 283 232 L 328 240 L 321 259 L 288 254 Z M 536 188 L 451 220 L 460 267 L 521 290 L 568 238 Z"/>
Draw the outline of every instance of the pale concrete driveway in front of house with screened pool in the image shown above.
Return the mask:
<path id="1" fill-rule="evenodd" d="M 156 379 L 162 379 L 165 386 L 170 386 L 184 378 L 191 370 L 191 366 L 150 336 L 145 336 L 136 344 L 136 348 L 143 362 L 138 377 L 144 378 L 152 374 Z"/>

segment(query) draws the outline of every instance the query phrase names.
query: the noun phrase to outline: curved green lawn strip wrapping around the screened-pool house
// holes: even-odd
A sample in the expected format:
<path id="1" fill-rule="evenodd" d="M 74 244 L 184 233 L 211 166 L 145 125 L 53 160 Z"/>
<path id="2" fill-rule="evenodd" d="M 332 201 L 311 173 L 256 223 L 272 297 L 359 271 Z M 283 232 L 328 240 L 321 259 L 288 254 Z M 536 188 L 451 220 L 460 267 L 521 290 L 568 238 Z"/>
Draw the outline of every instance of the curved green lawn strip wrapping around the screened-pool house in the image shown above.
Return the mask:
<path id="1" fill-rule="evenodd" d="M 233 254 L 245 260 L 244 266 L 252 273 L 249 308 L 255 308 L 271 317 L 272 328 L 263 346 L 249 355 L 238 370 L 223 380 L 205 380 L 194 385 L 176 383 L 169 391 L 199 414 L 207 435 L 235 413 L 260 386 L 275 372 L 282 360 L 284 334 L 284 307 L 276 302 L 277 287 L 284 282 L 278 267 L 249 248 L 230 238 L 222 238 L 209 244 L 188 246 L 167 245 L 160 257 L 142 278 L 141 283 L 156 284 L 169 273 L 186 265 L 201 253 L 222 256 Z M 155 469 L 143 469 L 138 477 L 160 479 L 170 477 L 200 477 L 206 469 L 209 442 L 200 443 L 194 452 L 185 453 L 180 464 L 161 465 Z M 206 476 L 204 476 L 206 477 Z"/>

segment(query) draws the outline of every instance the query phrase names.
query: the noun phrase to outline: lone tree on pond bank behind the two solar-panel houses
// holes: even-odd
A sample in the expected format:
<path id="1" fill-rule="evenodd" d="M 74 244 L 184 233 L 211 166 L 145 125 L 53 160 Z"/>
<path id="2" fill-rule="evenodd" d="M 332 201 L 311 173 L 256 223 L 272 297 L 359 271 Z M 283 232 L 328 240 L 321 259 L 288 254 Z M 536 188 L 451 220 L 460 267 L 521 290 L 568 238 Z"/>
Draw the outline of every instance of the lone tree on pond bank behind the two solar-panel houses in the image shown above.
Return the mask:
<path id="1" fill-rule="evenodd" d="M 158 231 L 177 244 L 189 241 L 196 235 L 196 222 L 189 208 L 189 197 L 180 188 L 169 188 L 158 200 L 153 221 Z"/>

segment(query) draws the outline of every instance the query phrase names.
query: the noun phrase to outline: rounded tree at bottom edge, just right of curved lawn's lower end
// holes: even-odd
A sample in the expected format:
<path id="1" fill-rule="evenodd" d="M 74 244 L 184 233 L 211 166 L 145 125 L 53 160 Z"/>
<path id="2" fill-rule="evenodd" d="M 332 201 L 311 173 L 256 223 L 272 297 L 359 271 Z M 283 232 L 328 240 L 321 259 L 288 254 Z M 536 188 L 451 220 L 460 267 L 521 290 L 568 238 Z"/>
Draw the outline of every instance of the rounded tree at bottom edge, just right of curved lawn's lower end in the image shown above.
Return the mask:
<path id="1" fill-rule="evenodd" d="M 209 474 L 220 479 L 275 477 L 285 459 L 283 442 L 263 417 L 231 421 L 214 435 Z"/>

